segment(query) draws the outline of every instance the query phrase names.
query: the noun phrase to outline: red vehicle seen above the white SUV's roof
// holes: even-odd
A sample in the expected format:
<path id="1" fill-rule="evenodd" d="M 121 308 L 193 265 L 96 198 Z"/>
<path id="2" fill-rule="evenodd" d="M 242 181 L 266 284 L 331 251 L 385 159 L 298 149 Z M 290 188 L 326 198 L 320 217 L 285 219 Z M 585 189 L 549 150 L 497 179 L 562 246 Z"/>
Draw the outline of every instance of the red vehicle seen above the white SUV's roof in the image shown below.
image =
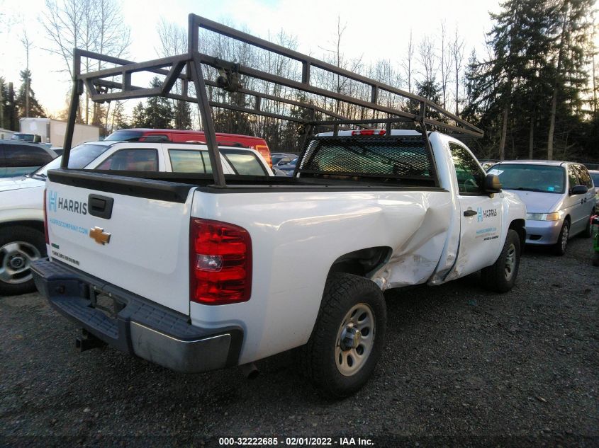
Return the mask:
<path id="1" fill-rule="evenodd" d="M 225 134 L 216 132 L 216 142 L 228 147 L 250 148 L 258 151 L 269 166 L 272 166 L 270 149 L 266 140 L 252 135 Z M 123 129 L 108 135 L 109 142 L 179 142 L 206 143 L 203 131 L 174 130 L 174 129 Z"/>

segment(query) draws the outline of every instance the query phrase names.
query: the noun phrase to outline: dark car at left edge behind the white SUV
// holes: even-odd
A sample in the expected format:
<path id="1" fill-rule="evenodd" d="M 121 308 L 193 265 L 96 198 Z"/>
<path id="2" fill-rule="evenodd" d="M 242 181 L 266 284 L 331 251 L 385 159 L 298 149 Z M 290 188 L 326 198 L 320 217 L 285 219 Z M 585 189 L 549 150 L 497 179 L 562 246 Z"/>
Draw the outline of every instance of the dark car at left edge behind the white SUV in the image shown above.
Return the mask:
<path id="1" fill-rule="evenodd" d="M 58 154 L 41 144 L 18 140 L 0 141 L 0 178 L 28 174 L 55 159 Z"/>

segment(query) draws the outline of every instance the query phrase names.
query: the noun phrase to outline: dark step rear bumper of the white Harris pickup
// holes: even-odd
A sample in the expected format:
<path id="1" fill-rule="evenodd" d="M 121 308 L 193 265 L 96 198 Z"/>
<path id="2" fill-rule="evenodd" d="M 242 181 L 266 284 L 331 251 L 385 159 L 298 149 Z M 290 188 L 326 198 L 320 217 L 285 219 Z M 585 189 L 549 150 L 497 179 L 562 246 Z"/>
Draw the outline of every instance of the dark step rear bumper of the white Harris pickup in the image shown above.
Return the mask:
<path id="1" fill-rule="evenodd" d="M 47 258 L 32 265 L 35 286 L 60 314 L 108 345 L 177 372 L 237 365 L 239 327 L 199 328 L 189 317 Z M 113 312 L 96 308 L 98 297 Z"/>

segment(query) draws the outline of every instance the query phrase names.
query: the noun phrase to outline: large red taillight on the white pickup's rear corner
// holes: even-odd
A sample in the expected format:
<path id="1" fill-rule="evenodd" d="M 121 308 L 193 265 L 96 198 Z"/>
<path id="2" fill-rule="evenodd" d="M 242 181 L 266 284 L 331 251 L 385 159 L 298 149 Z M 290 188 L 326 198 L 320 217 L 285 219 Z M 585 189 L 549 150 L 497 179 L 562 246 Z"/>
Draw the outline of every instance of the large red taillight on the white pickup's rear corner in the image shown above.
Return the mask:
<path id="1" fill-rule="evenodd" d="M 247 301 L 252 294 L 252 239 L 234 224 L 191 218 L 190 300 L 205 305 Z"/>

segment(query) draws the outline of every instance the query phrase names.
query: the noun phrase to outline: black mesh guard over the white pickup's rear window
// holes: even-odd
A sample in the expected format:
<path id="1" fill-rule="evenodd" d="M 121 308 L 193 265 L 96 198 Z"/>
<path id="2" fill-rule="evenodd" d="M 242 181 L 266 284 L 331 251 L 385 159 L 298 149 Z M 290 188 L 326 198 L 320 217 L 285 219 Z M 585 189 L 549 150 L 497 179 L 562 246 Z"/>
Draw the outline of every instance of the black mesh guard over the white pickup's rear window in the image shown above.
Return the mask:
<path id="1" fill-rule="evenodd" d="M 313 137 L 296 173 L 301 177 L 357 177 L 378 182 L 430 183 L 438 187 L 435 161 L 424 136 Z"/>

